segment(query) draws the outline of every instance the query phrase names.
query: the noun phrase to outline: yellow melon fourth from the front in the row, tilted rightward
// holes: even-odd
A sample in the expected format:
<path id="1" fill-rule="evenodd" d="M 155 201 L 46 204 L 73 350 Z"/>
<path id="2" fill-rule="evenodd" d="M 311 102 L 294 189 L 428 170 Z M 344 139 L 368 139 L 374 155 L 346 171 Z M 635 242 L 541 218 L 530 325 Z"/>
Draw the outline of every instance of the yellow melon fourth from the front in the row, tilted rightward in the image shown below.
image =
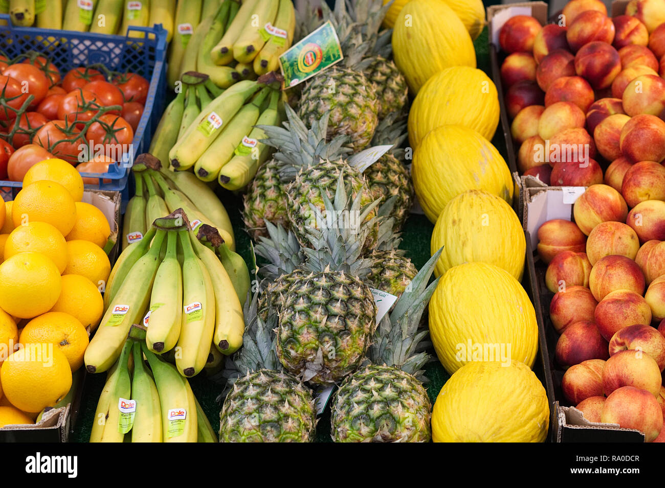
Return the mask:
<path id="1" fill-rule="evenodd" d="M 437 127 L 413 155 L 411 175 L 418 201 L 436 223 L 448 202 L 467 190 L 485 190 L 508 203 L 515 187 L 501 153 L 485 137 L 461 125 Z"/>

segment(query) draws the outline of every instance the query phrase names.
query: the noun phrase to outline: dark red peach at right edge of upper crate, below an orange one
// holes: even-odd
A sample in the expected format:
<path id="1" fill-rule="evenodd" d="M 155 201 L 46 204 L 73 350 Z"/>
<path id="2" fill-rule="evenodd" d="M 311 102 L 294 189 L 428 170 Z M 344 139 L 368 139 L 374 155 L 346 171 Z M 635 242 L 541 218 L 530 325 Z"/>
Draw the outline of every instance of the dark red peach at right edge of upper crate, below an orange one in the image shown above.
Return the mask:
<path id="1" fill-rule="evenodd" d="M 632 163 L 660 163 L 665 159 L 665 122 L 648 114 L 634 116 L 624 125 L 619 142 L 621 152 Z"/>

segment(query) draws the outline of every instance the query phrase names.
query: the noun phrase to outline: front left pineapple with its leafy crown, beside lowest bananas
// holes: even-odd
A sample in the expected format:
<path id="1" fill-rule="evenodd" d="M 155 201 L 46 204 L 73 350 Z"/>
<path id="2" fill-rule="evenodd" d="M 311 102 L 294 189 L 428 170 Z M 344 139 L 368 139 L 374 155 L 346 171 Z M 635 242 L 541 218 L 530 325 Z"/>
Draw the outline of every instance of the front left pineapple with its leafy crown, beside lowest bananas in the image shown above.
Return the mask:
<path id="1" fill-rule="evenodd" d="M 272 326 L 257 315 L 257 295 L 245 304 L 243 349 L 223 375 L 232 384 L 219 414 L 220 442 L 312 442 L 317 425 L 313 393 L 283 372 Z"/>

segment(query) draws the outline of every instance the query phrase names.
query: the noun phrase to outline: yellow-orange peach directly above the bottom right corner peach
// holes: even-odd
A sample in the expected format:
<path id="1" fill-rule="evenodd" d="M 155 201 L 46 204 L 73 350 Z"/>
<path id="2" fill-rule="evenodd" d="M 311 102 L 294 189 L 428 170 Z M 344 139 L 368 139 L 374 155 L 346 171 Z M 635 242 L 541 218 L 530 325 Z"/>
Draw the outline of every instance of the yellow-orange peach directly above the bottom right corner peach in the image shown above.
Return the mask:
<path id="1" fill-rule="evenodd" d="M 661 384 L 658 363 L 642 351 L 620 351 L 606 361 L 602 370 L 602 388 L 608 396 L 617 388 L 633 386 L 648 391 L 656 400 Z M 662 412 L 658 413 L 662 418 Z"/>

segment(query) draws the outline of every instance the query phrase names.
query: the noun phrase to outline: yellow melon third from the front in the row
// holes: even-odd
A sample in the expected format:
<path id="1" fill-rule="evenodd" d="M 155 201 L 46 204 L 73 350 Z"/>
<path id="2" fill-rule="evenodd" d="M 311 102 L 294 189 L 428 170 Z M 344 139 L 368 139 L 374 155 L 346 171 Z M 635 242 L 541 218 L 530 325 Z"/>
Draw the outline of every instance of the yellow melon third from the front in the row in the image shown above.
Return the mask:
<path id="1" fill-rule="evenodd" d="M 432 254 L 444 248 L 434 274 L 466 262 L 494 264 L 522 280 L 527 242 L 521 223 L 505 200 L 483 190 L 452 199 L 436 220 Z"/>

